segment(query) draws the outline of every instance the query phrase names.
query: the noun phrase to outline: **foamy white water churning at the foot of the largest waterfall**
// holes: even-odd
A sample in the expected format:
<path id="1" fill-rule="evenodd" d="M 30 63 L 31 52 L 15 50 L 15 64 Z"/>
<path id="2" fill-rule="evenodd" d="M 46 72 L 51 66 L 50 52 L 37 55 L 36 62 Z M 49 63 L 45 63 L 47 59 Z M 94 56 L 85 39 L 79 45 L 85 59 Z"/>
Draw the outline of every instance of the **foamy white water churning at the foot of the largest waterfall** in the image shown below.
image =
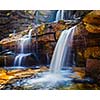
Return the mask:
<path id="1" fill-rule="evenodd" d="M 71 84 L 72 79 L 70 76 L 73 75 L 73 73 L 70 72 L 70 70 L 64 70 L 61 71 L 61 74 L 59 73 L 51 73 L 51 72 L 43 72 L 38 73 L 38 77 L 36 78 L 29 78 L 28 80 L 24 80 L 24 86 L 27 89 L 56 89 L 56 87 L 64 86 Z"/>

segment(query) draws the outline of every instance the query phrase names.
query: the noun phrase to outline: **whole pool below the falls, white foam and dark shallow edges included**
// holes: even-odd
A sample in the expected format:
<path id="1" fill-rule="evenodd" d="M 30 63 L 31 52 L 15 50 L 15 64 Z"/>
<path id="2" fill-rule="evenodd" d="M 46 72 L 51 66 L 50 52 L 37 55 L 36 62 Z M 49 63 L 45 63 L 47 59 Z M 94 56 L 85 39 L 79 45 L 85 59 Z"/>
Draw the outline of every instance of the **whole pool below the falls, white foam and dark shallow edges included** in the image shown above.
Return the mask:
<path id="1" fill-rule="evenodd" d="M 74 76 L 74 77 L 72 77 Z M 12 90 L 87 90 L 100 89 L 90 78 L 80 79 L 72 68 L 63 68 L 59 73 L 42 72 L 28 78 L 18 79 L 5 86 Z"/>

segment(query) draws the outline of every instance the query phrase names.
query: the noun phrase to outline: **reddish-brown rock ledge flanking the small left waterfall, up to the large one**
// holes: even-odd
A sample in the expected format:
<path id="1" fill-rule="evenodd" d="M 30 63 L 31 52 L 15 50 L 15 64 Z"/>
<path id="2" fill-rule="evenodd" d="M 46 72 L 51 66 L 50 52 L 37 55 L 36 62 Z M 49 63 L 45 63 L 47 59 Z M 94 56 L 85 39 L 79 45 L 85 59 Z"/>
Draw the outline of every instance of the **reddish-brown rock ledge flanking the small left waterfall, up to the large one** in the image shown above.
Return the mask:
<path id="1" fill-rule="evenodd" d="M 55 44 L 64 29 L 67 29 L 69 26 L 66 24 L 68 22 L 59 21 L 57 23 L 50 24 L 40 24 L 35 27 L 32 31 L 32 40 L 31 44 L 28 47 L 25 47 L 25 50 L 29 50 L 32 53 L 31 57 L 27 57 L 31 60 L 31 65 L 37 64 L 49 64 Z M 29 30 L 24 30 L 18 32 L 16 35 L 10 34 L 8 38 L 5 38 L 0 41 L 2 48 L 11 50 L 15 53 L 20 51 L 20 48 L 17 44 L 19 39 L 27 35 Z M 35 60 L 34 60 L 35 59 Z M 25 65 L 28 65 L 28 60 L 25 62 Z"/>

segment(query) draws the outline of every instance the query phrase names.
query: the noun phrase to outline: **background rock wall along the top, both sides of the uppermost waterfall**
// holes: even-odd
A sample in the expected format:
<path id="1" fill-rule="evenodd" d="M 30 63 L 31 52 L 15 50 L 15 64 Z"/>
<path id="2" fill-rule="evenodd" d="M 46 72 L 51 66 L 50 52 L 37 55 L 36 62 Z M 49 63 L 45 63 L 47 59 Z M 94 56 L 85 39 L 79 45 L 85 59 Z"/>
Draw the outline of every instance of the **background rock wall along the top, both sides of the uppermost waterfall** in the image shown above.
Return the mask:
<path id="1" fill-rule="evenodd" d="M 64 10 L 64 19 L 82 17 L 89 11 Z M 0 11 L 0 40 L 11 33 L 17 33 L 34 27 L 34 24 L 54 22 L 57 10 L 5 10 Z"/>

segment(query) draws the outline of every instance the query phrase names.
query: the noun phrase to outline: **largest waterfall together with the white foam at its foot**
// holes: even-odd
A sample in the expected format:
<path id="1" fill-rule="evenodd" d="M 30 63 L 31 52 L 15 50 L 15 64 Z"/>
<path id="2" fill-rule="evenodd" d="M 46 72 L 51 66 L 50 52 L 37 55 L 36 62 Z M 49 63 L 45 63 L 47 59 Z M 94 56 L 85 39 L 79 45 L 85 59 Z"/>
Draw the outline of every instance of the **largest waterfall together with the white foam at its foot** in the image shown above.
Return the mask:
<path id="1" fill-rule="evenodd" d="M 29 80 L 26 80 L 25 87 L 30 87 L 31 89 L 55 89 L 59 86 L 71 84 L 72 78 L 69 77 L 73 75 L 71 69 L 67 67 L 67 70 L 61 70 L 61 68 L 69 59 L 75 27 L 64 30 L 61 33 L 54 50 L 49 71 L 38 73 L 36 78 L 29 78 Z"/>

